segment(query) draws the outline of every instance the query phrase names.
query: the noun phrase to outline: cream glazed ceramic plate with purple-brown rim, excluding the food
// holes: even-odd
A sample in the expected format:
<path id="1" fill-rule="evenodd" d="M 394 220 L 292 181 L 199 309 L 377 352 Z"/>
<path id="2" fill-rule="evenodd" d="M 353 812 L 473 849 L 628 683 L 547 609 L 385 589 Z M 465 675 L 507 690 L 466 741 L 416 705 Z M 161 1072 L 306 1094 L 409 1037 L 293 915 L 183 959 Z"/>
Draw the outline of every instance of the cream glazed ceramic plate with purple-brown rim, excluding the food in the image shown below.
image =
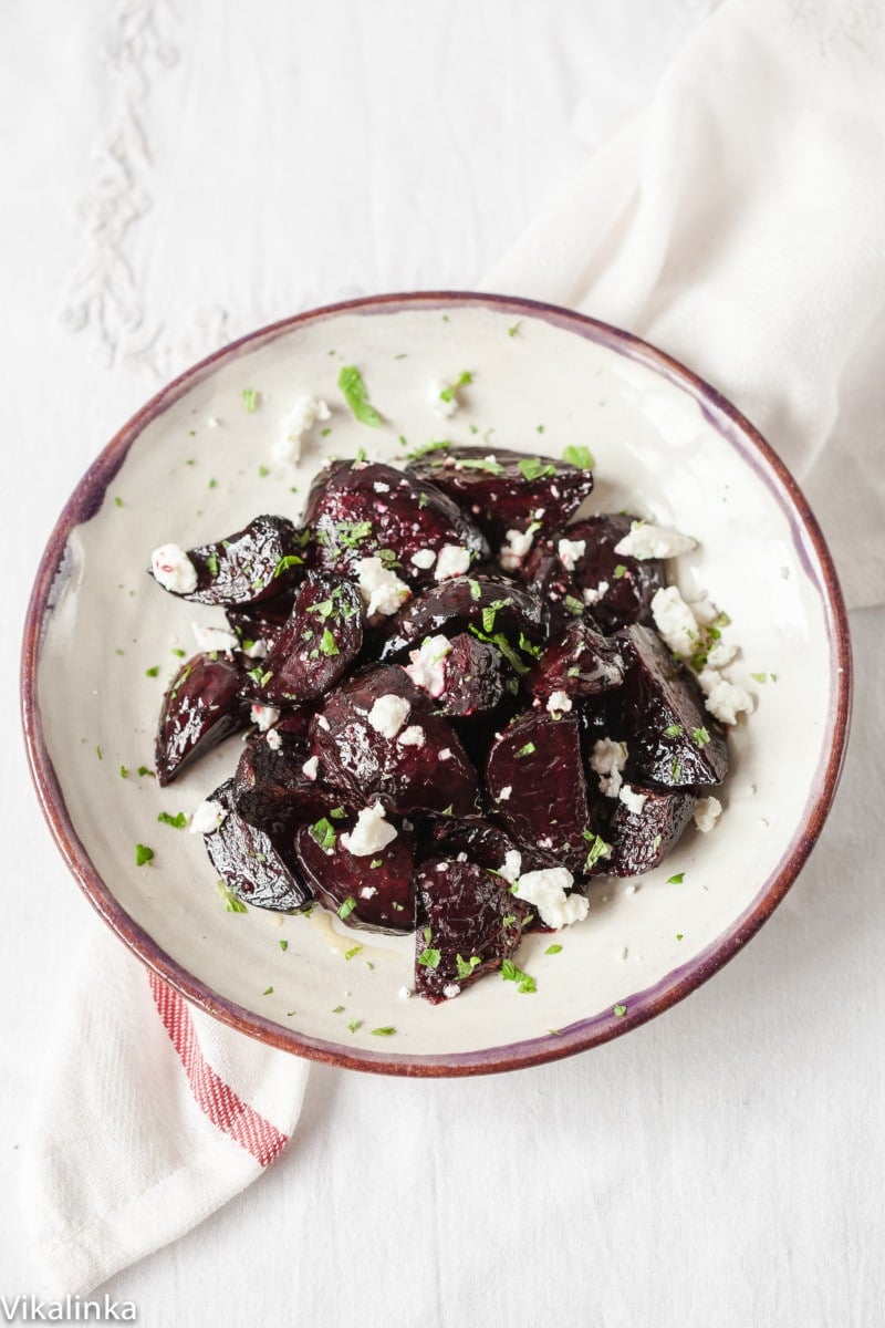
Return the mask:
<path id="1" fill-rule="evenodd" d="M 382 429 L 350 416 L 336 388 L 341 364 L 361 368 Z M 474 382 L 442 425 L 427 382 L 464 369 Z M 247 388 L 259 393 L 253 413 Z M 324 396 L 333 417 L 292 470 L 272 459 L 272 446 L 304 392 Z M 586 510 L 629 509 L 694 535 L 699 547 L 678 559 L 674 578 L 689 598 L 707 592 L 727 611 L 728 639 L 740 647 L 728 673 L 756 708 L 732 733 L 726 810 L 710 835 L 691 827 L 663 867 L 636 883 L 598 880 L 586 922 L 556 938 L 559 954 L 544 954 L 549 938 L 528 936 L 517 961 L 536 993 L 490 979 L 429 1007 L 401 996 L 411 939 L 353 932 L 322 910 L 309 920 L 226 912 L 199 837 L 158 823 L 159 811 L 191 811 L 232 770 L 238 740 L 167 790 L 137 770 L 153 764 L 157 712 L 179 663 L 172 651 L 192 652 L 192 622 L 222 620 L 165 595 L 145 574 L 150 550 L 219 538 L 259 511 L 297 517 L 326 456 L 365 448 L 390 459 L 402 456 L 401 438 L 413 448 L 439 437 L 529 454 L 586 445 L 597 481 Z M 220 351 L 154 397 L 61 514 L 23 653 L 25 740 L 46 821 L 118 938 L 245 1033 L 406 1076 L 568 1056 L 710 977 L 807 859 L 839 780 L 849 708 L 848 628 L 829 554 L 752 426 L 624 332 L 470 293 L 391 295 L 301 315 Z M 135 865 L 137 842 L 154 847 L 150 867 Z M 345 957 L 354 946 L 362 948 Z M 377 1027 L 395 1033 L 379 1038 Z"/>

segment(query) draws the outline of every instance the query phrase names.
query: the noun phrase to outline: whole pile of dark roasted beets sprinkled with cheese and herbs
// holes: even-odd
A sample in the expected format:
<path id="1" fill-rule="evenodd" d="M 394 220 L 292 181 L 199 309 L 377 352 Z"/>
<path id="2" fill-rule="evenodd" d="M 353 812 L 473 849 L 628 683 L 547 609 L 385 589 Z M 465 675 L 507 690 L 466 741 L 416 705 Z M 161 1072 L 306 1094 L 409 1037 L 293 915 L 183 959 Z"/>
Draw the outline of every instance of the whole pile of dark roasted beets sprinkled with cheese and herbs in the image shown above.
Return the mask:
<path id="1" fill-rule="evenodd" d="M 633 518 L 569 525 L 592 487 L 502 449 L 334 461 L 301 525 L 257 517 L 187 552 L 184 598 L 222 606 L 239 648 L 172 680 L 157 776 L 248 730 L 206 834 L 232 895 L 414 931 L 415 989 L 438 1001 L 544 926 L 512 863 L 580 891 L 661 862 L 726 737 L 649 625 L 662 563 L 614 551 Z M 600 740 L 624 744 L 633 806 L 601 791 Z"/>

